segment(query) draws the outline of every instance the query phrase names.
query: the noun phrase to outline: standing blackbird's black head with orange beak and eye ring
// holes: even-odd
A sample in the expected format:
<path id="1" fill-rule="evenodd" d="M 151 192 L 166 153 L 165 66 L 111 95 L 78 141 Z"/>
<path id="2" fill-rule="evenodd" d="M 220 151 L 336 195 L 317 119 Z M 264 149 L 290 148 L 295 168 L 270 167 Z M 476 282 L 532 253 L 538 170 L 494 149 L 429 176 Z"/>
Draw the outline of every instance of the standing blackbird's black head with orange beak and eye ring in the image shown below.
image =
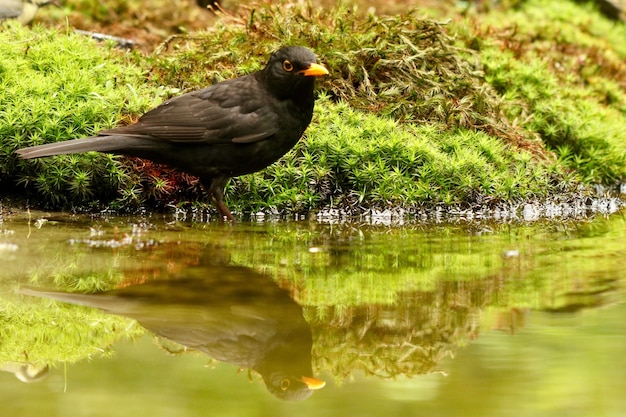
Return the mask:
<path id="1" fill-rule="evenodd" d="M 274 52 L 264 71 L 267 88 L 279 99 L 313 95 L 315 77 L 328 70 L 317 63 L 315 54 L 301 46 L 286 46 Z"/>

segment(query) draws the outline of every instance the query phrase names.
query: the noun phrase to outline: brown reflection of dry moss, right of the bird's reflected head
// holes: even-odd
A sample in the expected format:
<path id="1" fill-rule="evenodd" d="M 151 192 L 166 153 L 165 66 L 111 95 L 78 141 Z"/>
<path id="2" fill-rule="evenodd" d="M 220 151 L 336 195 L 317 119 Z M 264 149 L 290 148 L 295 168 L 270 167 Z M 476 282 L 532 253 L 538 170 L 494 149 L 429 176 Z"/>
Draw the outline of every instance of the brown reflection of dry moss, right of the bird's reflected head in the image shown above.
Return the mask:
<path id="1" fill-rule="evenodd" d="M 481 308 L 498 290 L 488 280 L 447 282 L 430 292 L 400 293 L 393 304 L 311 307 L 316 365 L 338 381 L 357 371 L 379 378 L 436 372 L 478 335 Z"/>

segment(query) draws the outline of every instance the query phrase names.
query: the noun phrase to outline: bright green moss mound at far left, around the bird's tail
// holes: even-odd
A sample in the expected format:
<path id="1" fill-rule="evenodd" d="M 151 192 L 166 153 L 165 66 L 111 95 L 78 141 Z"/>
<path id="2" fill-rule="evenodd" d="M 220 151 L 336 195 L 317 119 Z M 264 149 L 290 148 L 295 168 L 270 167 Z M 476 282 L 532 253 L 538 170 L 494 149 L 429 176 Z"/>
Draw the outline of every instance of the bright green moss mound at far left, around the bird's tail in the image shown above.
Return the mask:
<path id="1" fill-rule="evenodd" d="M 0 32 L 3 184 L 36 192 L 54 207 L 110 200 L 133 174 L 117 158 L 86 154 L 20 161 L 15 149 L 89 136 L 155 102 L 127 56 L 82 36 L 7 24 Z M 139 90 L 139 92 L 138 92 Z M 17 181 L 13 180 L 17 178 Z"/>

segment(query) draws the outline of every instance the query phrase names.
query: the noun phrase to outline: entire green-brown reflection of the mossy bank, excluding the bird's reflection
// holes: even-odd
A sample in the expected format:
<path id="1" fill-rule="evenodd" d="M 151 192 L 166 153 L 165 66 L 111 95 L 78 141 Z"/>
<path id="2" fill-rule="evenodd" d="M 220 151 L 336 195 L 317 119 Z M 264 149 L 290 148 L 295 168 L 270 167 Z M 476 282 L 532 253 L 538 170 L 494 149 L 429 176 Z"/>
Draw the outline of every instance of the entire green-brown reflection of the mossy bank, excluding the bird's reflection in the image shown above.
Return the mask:
<path id="1" fill-rule="evenodd" d="M 485 310 L 503 317 L 528 310 L 576 313 L 611 305 L 623 293 L 626 227 L 620 217 L 439 228 L 277 222 L 232 229 L 134 221 L 95 221 L 100 233 L 89 239 L 70 221 L 33 230 L 23 222 L 3 225 L 14 234 L 2 233 L 2 243 L 28 247 L 27 239 L 37 250 L 0 251 L 2 262 L 10 258 L 19 266 L 0 281 L 0 363 L 75 361 L 143 332 L 131 320 L 95 309 L 14 295 L 18 285 L 90 293 L 208 277 L 215 294 L 220 280 L 229 282 L 229 268 L 246 267 L 302 305 L 313 330 L 315 369 L 330 370 L 338 380 L 355 370 L 385 378 L 437 370 L 443 357 L 480 332 L 505 326 L 497 318 L 483 320 Z M 124 234 L 133 238 L 118 237 Z M 67 235 L 74 243 L 59 244 Z M 503 257 L 513 249 L 516 255 Z M 190 288 L 196 287 L 168 287 L 169 297 L 180 300 Z"/>

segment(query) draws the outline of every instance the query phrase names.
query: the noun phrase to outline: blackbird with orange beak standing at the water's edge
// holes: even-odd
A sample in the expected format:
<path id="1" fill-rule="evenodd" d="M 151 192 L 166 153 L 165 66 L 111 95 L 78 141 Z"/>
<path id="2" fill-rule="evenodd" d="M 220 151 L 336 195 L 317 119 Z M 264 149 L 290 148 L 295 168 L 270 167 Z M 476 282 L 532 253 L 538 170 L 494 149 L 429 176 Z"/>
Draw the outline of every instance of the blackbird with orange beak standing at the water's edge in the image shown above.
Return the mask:
<path id="1" fill-rule="evenodd" d="M 233 221 L 224 186 L 272 164 L 300 140 L 313 116 L 314 79 L 326 74 L 311 50 L 283 47 L 261 71 L 167 100 L 132 125 L 17 153 L 29 159 L 99 151 L 150 159 L 199 177 L 220 218 Z"/>

